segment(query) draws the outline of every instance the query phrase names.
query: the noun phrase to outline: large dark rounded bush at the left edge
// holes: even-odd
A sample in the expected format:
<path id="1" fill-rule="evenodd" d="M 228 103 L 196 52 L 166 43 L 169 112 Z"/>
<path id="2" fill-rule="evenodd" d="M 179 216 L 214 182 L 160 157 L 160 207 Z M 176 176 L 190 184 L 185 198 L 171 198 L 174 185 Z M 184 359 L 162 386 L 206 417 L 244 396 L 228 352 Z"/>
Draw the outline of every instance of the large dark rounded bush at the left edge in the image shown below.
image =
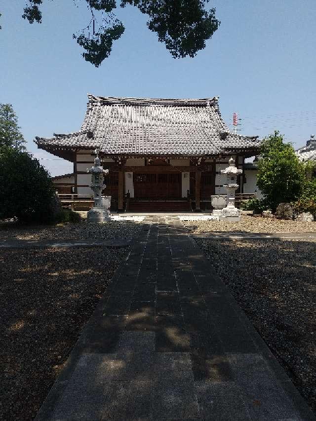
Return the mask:
<path id="1" fill-rule="evenodd" d="M 40 162 L 26 152 L 0 148 L 0 219 L 51 222 L 54 188 Z"/>

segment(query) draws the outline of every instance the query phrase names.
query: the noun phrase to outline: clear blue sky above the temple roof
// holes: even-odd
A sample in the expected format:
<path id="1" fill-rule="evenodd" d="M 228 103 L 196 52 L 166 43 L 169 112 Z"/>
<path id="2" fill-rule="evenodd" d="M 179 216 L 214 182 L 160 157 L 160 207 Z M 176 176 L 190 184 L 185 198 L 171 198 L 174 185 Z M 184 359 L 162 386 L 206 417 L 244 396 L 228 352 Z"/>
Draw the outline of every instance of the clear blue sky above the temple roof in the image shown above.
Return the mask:
<path id="1" fill-rule="evenodd" d="M 315 0 L 210 0 L 221 26 L 193 59 L 173 59 L 145 15 L 118 9 L 125 33 L 98 69 L 72 39 L 90 19 L 84 0 L 45 0 L 40 25 L 21 18 L 24 4 L 0 1 L 0 102 L 13 105 L 29 151 L 52 175 L 72 165 L 38 150 L 33 139 L 78 130 L 86 93 L 219 95 L 226 122 L 233 112 L 242 118 L 242 134 L 279 129 L 299 147 L 316 132 Z"/>

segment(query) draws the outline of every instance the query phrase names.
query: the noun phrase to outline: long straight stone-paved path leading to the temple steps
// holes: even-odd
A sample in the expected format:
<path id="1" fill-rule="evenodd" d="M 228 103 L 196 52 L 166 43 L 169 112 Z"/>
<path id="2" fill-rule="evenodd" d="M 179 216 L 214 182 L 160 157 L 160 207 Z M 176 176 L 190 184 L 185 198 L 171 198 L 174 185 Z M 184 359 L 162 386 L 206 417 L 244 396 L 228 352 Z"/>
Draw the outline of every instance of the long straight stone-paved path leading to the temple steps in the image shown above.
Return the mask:
<path id="1" fill-rule="evenodd" d="M 178 218 L 144 221 L 110 288 L 37 421 L 315 420 Z"/>

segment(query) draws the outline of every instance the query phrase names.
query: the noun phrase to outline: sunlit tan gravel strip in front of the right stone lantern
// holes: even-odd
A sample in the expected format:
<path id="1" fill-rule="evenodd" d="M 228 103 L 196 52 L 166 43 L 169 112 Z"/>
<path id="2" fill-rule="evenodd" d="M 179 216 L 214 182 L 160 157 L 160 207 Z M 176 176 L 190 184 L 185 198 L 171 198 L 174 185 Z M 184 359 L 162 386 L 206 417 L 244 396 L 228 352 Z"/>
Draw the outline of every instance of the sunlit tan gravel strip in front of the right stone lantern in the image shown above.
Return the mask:
<path id="1" fill-rule="evenodd" d="M 242 215 L 240 222 L 183 221 L 191 233 L 199 232 L 316 232 L 316 222 L 283 221 Z"/>

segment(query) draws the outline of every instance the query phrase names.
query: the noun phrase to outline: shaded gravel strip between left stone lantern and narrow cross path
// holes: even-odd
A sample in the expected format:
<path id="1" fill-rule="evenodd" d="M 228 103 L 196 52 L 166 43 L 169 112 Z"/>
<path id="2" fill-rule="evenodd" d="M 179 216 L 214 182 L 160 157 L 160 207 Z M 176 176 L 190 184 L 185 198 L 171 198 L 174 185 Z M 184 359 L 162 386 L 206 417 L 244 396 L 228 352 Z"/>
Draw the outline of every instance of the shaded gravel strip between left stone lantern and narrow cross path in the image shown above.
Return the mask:
<path id="1" fill-rule="evenodd" d="M 16 223 L 0 224 L 0 241 L 6 240 L 83 240 L 83 239 L 131 239 L 139 230 L 140 224 L 132 221 L 107 222 L 106 224 L 87 223 L 57 224 L 42 226 L 19 226 Z"/>

